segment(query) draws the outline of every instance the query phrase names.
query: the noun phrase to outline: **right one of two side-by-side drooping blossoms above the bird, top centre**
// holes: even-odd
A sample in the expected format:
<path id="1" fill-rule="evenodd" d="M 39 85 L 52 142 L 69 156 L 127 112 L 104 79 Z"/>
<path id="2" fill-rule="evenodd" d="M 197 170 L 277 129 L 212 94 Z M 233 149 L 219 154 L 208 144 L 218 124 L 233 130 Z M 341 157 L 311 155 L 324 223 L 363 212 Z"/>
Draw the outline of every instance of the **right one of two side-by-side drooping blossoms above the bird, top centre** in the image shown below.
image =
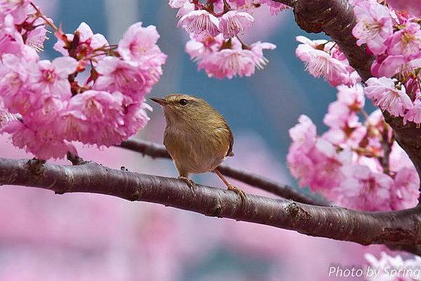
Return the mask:
<path id="1" fill-rule="evenodd" d="M 244 32 L 253 22 L 254 18 L 249 13 L 229 11 L 220 18 L 219 30 L 225 39 L 229 39 Z"/>

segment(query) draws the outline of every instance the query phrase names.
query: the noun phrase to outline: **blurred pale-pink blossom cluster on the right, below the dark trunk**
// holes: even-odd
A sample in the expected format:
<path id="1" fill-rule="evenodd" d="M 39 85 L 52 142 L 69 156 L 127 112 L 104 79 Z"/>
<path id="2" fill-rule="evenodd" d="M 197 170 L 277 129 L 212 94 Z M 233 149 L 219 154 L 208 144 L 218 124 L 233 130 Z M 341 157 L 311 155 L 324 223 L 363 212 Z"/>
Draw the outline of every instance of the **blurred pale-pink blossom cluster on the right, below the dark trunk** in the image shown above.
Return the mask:
<path id="1" fill-rule="evenodd" d="M 380 111 L 359 121 L 363 106 L 362 88 L 340 85 L 338 100 L 329 105 L 324 118 L 327 132 L 318 136 L 310 118 L 300 116 L 300 123 L 290 129 L 290 172 L 300 186 L 344 207 L 367 211 L 414 207 L 420 182 L 415 167 L 394 142 Z"/>

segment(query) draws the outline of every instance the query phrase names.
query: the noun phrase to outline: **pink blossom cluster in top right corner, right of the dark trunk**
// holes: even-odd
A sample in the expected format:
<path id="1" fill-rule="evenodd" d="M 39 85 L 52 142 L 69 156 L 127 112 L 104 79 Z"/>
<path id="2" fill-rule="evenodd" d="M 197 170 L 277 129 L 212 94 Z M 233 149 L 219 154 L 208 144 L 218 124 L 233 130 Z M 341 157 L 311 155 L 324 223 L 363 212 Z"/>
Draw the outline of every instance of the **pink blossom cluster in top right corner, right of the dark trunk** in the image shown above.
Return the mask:
<path id="1" fill-rule="evenodd" d="M 354 0 L 358 22 L 352 32 L 357 44 L 366 44 L 376 57 L 371 66 L 374 77 L 366 82 L 367 96 L 383 111 L 420 124 L 421 18 L 408 13 L 419 8 L 415 2 L 415 10 L 396 5 L 408 11 L 395 11 L 385 2 Z"/>

